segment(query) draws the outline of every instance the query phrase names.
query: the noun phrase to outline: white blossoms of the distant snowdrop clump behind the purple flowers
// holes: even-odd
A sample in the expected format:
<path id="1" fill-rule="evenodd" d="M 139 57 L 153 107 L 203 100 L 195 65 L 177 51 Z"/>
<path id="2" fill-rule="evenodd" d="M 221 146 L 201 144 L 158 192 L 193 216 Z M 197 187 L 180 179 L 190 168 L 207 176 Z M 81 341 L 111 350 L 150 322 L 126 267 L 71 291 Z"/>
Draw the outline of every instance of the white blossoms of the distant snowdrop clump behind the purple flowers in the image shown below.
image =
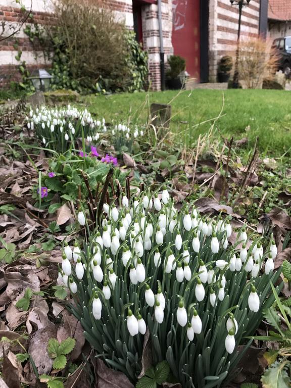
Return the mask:
<path id="1" fill-rule="evenodd" d="M 26 123 L 28 129 L 38 130 L 44 145 L 52 138 L 54 132 L 62 134 L 68 141 L 71 135 L 74 137 L 80 125 L 85 129 L 86 139 L 89 142 L 98 140 L 100 132 L 106 131 L 105 119 L 93 120 L 86 109 L 79 111 L 70 105 L 61 109 L 42 106 L 40 109 L 36 108 L 35 112 L 30 110 L 29 115 L 26 116 Z"/>

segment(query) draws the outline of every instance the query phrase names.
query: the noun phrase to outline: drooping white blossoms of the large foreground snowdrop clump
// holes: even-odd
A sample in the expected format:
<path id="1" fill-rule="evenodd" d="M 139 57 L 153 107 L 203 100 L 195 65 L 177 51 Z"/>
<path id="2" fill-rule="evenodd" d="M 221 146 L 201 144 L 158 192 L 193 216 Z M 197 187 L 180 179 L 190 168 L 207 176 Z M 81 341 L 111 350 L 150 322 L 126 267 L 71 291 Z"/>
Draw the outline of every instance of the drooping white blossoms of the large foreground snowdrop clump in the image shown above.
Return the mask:
<path id="1" fill-rule="evenodd" d="M 105 216 L 92 237 L 89 255 L 77 244 L 73 252 L 66 245 L 59 274 L 73 295 L 85 277 L 91 279 L 95 284 L 91 311 L 96 320 L 102 319 L 104 304 L 111 305 L 113 293 L 117 292 L 120 298 L 121 278 L 128 289 L 136 287 L 138 293 L 144 295 L 138 305 L 130 301 L 134 310 L 128 309 L 127 328 L 132 336 L 146 332 L 147 316 L 138 312 L 144 305 L 148 306 L 156 322 L 164 321 L 165 309 L 171 308 L 169 289 L 165 289 L 165 284 L 173 277 L 177 284 L 184 284 L 180 289 L 194 290 L 188 306 L 183 295 L 179 295 L 175 307 L 176 321 L 185 327 L 189 341 L 203 330 L 198 314 L 200 304 L 209 301 L 215 309 L 224 301 L 229 292 L 227 279 L 232 274 L 240 274 L 247 280 L 249 310 L 259 311 L 262 301 L 254 283 L 265 259 L 265 274 L 269 275 L 274 269 L 277 248 L 273 240 L 265 253 L 259 239 L 247 250 L 248 235 L 242 228 L 232 248 L 228 244 L 232 234 L 228 219 L 202 217 L 195 207 L 187 205 L 177 211 L 165 187 L 160 196 L 141 193 L 132 201 L 123 196 L 118 207 L 105 204 L 103 210 Z M 78 221 L 82 226 L 86 224 L 83 212 L 78 213 Z M 237 249 L 241 243 L 242 248 Z M 159 280 L 153 283 L 152 278 L 157 279 L 158 273 Z M 235 312 L 231 313 L 226 322 L 225 349 L 229 354 L 234 351 L 235 334 L 239 330 L 234 316 Z"/>

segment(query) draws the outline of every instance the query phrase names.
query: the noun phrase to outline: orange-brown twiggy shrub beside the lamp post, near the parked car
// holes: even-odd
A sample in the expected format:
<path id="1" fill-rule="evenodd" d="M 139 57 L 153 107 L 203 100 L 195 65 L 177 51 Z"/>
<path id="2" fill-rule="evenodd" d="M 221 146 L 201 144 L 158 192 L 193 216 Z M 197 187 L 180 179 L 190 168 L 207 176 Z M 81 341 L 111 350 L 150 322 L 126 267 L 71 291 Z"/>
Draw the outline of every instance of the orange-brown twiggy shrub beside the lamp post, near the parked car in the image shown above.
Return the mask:
<path id="1" fill-rule="evenodd" d="M 264 79 L 272 79 L 277 63 L 278 55 L 269 40 L 257 36 L 240 42 L 238 71 L 247 88 L 261 88 Z"/>

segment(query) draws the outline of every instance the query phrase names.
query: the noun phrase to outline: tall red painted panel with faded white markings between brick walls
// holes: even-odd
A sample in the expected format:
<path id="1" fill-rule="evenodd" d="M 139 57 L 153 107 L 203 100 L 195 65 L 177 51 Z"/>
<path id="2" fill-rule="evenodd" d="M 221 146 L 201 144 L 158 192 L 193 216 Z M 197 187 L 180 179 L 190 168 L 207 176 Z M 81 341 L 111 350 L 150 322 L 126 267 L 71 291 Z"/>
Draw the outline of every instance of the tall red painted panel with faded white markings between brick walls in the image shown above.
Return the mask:
<path id="1" fill-rule="evenodd" d="M 191 77 L 200 78 L 200 0 L 173 0 L 174 55 L 186 59 Z"/>

